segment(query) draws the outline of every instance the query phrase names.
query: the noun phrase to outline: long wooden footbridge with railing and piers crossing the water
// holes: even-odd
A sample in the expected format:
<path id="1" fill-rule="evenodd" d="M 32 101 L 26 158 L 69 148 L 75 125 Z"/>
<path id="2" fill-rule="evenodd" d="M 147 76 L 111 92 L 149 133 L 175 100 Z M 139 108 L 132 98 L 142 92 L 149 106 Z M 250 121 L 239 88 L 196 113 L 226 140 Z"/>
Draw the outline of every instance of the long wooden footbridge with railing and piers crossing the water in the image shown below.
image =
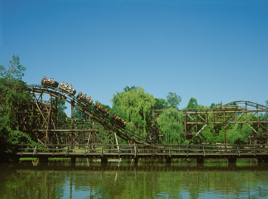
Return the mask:
<path id="1" fill-rule="evenodd" d="M 203 162 L 204 158 L 227 158 L 229 162 L 236 162 L 237 158 L 257 158 L 259 162 L 268 162 L 268 145 L 163 145 L 163 144 L 134 144 L 134 145 L 18 145 L 16 151 L 11 151 L 12 158 L 101 158 L 107 162 L 108 158 L 165 158 L 171 162 L 172 158 L 196 158 Z"/>

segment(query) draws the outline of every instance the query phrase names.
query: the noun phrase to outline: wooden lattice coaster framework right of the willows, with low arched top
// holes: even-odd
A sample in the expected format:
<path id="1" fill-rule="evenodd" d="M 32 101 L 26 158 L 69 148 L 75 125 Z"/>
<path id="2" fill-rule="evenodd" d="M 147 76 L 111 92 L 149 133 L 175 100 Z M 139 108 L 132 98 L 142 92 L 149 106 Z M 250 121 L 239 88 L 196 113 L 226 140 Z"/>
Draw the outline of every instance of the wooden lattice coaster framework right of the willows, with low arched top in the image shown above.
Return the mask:
<path id="1" fill-rule="evenodd" d="M 247 100 L 229 102 L 208 110 L 185 110 L 183 120 L 184 138 L 191 141 L 208 124 L 221 124 L 224 128 L 224 144 L 226 144 L 226 127 L 237 123 L 250 126 L 256 138 L 259 135 L 260 129 L 268 131 L 268 121 L 264 120 L 267 113 L 267 106 Z M 246 118 L 245 121 L 241 120 L 243 116 Z M 256 120 L 253 120 L 254 116 L 257 118 Z M 264 137 L 262 136 L 261 142 L 263 142 L 263 139 Z M 267 140 L 267 135 L 265 139 Z"/>

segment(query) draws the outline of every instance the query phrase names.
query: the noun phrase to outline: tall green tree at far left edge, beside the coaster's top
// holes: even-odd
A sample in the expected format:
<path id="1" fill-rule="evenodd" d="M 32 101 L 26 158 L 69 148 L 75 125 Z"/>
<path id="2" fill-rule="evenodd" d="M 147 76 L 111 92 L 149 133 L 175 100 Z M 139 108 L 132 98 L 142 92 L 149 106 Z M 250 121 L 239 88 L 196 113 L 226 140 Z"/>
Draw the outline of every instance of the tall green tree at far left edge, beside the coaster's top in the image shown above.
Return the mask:
<path id="1" fill-rule="evenodd" d="M 24 86 L 21 80 L 25 67 L 20 64 L 19 56 L 0 66 L 0 150 L 12 149 L 14 144 L 31 142 L 29 135 L 17 131 L 20 104 L 25 103 Z"/>

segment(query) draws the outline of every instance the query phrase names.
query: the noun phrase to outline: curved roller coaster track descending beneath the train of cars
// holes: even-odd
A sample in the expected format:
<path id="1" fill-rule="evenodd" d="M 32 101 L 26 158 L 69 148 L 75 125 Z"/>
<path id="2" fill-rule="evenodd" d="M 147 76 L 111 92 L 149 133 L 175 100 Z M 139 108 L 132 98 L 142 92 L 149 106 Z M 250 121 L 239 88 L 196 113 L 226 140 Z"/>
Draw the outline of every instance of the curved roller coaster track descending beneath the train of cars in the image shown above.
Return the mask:
<path id="1" fill-rule="evenodd" d="M 140 135 L 137 135 L 133 131 L 126 129 L 126 128 L 120 128 L 118 126 L 114 126 L 112 122 L 110 121 L 109 117 L 103 117 L 97 113 L 95 113 L 95 108 L 92 106 L 84 106 L 80 105 L 81 100 L 78 99 L 77 97 L 68 94 L 67 92 L 65 93 L 62 89 L 54 88 L 51 86 L 44 86 L 41 84 L 27 84 L 25 90 L 33 93 L 46 93 L 49 94 L 52 97 L 57 97 L 58 99 L 62 99 L 65 102 L 71 104 L 72 106 L 76 107 L 80 111 L 84 112 L 87 114 L 90 118 L 93 118 L 96 120 L 99 124 L 104 126 L 106 129 L 115 132 L 117 136 L 122 138 L 123 140 L 127 142 L 132 142 L 136 144 L 152 144 L 152 143 L 157 143 L 154 140 L 149 140 L 147 138 L 144 138 Z"/>

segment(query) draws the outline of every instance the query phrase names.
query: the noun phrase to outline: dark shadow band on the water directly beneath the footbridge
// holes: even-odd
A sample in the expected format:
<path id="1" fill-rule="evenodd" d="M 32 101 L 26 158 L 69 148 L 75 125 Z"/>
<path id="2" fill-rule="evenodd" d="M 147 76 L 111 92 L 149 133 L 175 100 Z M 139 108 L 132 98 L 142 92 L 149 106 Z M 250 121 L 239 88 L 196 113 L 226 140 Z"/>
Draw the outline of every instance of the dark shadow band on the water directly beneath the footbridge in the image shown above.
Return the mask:
<path id="1" fill-rule="evenodd" d="M 33 164 L 29 164 L 32 162 Z M 36 161 L 22 161 L 20 163 L 5 164 L 2 167 L 9 169 L 38 169 L 54 171 L 188 171 L 188 170 L 202 170 L 202 171 L 254 171 L 254 170 L 268 170 L 268 163 L 258 163 L 255 160 L 243 159 L 237 163 L 228 163 L 226 160 L 207 160 L 204 163 L 196 163 L 196 160 L 178 159 L 172 163 L 166 163 L 162 159 L 141 159 L 135 163 L 132 159 L 128 160 L 111 160 L 108 163 L 101 163 L 98 159 L 77 158 L 76 162 L 71 162 L 70 159 L 51 159 L 48 162 Z"/>

